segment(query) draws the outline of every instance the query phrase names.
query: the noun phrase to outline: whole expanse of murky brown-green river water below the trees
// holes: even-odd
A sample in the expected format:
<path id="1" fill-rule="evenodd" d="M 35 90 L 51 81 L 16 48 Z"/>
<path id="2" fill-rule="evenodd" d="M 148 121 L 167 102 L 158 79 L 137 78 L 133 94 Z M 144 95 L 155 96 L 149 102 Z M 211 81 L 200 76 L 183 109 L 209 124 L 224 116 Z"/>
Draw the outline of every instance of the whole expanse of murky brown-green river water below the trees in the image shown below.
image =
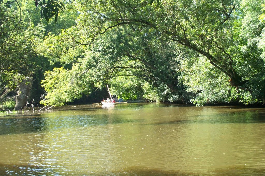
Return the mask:
<path id="1" fill-rule="evenodd" d="M 74 105 L 0 117 L 0 175 L 265 175 L 265 109 Z"/>

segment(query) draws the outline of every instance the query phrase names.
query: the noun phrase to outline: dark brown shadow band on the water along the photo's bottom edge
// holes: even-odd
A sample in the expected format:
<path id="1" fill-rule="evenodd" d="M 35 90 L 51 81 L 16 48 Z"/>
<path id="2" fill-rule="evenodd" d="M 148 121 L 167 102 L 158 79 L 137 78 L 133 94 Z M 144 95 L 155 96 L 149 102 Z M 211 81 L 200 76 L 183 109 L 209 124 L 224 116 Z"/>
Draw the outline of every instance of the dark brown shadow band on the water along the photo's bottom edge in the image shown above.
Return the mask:
<path id="1" fill-rule="evenodd" d="M 243 166 L 235 166 L 228 168 L 219 168 L 208 170 L 207 173 L 199 172 L 185 172 L 185 171 L 165 171 L 161 169 L 147 168 L 143 166 L 129 166 L 120 170 L 104 171 L 104 172 L 90 172 L 82 171 L 69 171 L 67 168 L 58 168 L 56 166 L 42 167 L 32 165 L 17 165 L 17 164 L 0 164 L 0 175 L 88 175 L 88 176 L 247 176 L 247 175 L 265 175 L 265 169 L 248 168 Z"/>

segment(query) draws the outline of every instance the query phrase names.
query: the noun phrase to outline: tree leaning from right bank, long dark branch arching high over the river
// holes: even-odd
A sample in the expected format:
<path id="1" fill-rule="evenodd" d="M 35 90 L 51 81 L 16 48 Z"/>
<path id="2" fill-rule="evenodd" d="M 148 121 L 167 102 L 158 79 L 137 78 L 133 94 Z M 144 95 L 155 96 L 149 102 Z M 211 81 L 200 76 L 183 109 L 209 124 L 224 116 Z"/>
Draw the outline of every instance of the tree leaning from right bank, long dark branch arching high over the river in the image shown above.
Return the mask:
<path id="1" fill-rule="evenodd" d="M 162 1 L 152 5 L 144 1 L 78 3 L 82 4 L 78 9 L 80 17 L 92 19 L 90 25 L 82 20 L 77 24 L 82 31 L 88 31 L 86 44 L 119 26 L 149 28 L 162 41 L 172 41 L 175 48 L 192 50 L 195 56 L 207 58 L 229 78 L 233 87 L 264 99 L 264 64 L 257 47 L 248 47 L 247 52 L 242 50 L 247 36 L 242 37 L 240 30 L 246 14 L 242 10 L 244 5 L 240 6 L 238 1 Z M 256 35 L 260 33 L 257 31 Z"/>

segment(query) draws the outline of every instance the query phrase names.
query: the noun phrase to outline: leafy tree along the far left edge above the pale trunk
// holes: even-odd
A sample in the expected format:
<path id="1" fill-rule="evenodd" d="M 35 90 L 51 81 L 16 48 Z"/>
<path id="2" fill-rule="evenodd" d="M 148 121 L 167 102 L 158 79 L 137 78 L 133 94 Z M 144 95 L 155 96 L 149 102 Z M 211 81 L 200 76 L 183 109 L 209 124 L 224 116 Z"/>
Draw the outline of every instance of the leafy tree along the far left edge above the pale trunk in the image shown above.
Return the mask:
<path id="1" fill-rule="evenodd" d="M 17 1 L 13 1 L 16 3 L 12 4 L 12 6 L 7 2 L 4 3 L 1 1 L 0 6 L 0 82 L 3 87 L 3 91 L 1 92 L 2 101 L 8 98 L 6 97 L 8 93 L 19 90 L 21 82 L 26 77 L 32 76 L 34 70 L 34 64 L 31 67 L 34 52 L 30 49 L 31 44 L 27 38 L 28 36 L 24 36 L 26 32 L 23 26 L 21 5 Z M 24 83 L 30 85 L 31 81 L 29 80 Z M 22 97 L 28 95 L 26 94 Z M 19 109 L 20 107 L 17 108 Z"/>

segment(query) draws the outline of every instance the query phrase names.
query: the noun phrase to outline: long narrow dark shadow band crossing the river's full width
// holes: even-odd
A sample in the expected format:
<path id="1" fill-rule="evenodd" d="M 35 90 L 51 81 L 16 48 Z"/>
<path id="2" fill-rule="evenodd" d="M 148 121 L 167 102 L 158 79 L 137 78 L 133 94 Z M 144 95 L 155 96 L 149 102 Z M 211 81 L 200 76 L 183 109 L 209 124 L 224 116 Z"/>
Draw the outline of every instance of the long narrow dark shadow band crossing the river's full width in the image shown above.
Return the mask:
<path id="1" fill-rule="evenodd" d="M 76 115 L 49 119 L 46 117 L 0 118 L 0 135 L 18 133 L 39 133 L 58 128 L 97 126 L 108 124 L 140 123 L 141 125 L 166 124 L 224 124 L 224 123 L 265 123 L 265 114 L 251 115 L 216 115 L 209 118 L 197 116 L 192 119 L 176 119 L 161 122 L 143 122 L 141 119 L 122 118 L 109 115 Z"/>

